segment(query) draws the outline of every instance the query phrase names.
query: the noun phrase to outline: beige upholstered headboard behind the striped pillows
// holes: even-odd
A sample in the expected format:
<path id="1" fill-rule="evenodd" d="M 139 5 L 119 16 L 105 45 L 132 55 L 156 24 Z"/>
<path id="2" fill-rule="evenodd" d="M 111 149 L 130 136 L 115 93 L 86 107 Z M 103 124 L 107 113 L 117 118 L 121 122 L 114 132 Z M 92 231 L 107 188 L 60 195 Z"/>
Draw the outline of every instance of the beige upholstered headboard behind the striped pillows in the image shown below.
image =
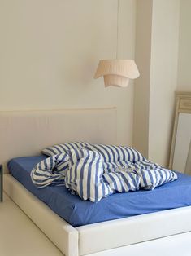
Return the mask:
<path id="1" fill-rule="evenodd" d="M 0 112 L 0 163 L 69 141 L 116 143 L 116 108 Z"/>

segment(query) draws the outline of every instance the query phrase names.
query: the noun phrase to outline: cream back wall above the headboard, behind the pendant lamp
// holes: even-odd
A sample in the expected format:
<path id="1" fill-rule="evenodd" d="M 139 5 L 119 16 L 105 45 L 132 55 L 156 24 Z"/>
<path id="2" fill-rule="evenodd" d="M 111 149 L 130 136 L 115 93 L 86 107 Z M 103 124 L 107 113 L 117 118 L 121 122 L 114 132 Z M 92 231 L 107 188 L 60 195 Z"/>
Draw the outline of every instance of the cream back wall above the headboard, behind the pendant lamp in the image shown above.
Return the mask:
<path id="1" fill-rule="evenodd" d="M 119 58 L 134 58 L 136 1 L 119 0 Z M 117 106 L 118 143 L 132 144 L 133 86 L 93 80 L 116 55 L 117 0 L 1 0 L 0 109 Z"/>

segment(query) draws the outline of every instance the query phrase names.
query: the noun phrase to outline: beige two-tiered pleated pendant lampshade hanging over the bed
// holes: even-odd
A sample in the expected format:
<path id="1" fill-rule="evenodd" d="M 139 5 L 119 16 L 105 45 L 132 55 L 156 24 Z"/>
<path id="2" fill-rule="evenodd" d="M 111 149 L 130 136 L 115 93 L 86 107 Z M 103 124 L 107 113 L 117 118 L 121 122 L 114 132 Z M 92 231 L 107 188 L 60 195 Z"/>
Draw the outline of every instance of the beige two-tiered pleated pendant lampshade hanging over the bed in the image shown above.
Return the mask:
<path id="1" fill-rule="evenodd" d="M 139 77 L 134 60 L 100 60 L 94 78 L 104 78 L 105 86 L 128 86 L 129 79 Z"/>

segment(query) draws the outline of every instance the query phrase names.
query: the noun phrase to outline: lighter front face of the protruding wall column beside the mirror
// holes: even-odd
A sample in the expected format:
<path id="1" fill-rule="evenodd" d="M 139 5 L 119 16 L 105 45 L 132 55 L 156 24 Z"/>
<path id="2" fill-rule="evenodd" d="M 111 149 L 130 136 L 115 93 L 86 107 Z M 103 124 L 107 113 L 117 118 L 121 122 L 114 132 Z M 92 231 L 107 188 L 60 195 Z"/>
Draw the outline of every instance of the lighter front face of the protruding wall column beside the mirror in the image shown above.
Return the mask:
<path id="1" fill-rule="evenodd" d="M 154 0 L 150 65 L 149 158 L 168 165 L 177 87 L 180 0 Z"/>

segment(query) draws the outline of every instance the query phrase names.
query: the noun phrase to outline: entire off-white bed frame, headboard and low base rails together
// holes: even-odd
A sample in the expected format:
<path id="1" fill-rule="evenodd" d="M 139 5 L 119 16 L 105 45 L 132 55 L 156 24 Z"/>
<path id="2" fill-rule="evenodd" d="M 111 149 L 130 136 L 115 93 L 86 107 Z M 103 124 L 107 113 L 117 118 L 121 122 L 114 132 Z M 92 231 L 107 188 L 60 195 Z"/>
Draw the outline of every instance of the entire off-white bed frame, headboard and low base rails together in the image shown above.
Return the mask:
<path id="1" fill-rule="evenodd" d="M 55 143 L 116 143 L 116 123 L 116 108 L 0 112 L 5 192 L 67 256 L 191 255 L 191 206 L 75 228 L 7 173 L 12 157 Z"/>

